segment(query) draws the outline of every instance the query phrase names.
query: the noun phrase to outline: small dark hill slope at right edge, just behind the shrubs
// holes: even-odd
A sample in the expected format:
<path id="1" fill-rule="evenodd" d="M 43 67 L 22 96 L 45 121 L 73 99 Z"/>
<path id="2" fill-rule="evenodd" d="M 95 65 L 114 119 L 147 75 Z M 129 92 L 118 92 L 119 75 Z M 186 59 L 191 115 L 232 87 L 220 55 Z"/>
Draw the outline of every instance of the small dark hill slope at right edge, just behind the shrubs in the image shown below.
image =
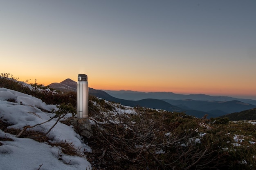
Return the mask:
<path id="1" fill-rule="evenodd" d="M 256 107 L 242 112 L 235 112 L 220 116 L 220 118 L 228 117 L 231 121 L 256 120 Z"/>

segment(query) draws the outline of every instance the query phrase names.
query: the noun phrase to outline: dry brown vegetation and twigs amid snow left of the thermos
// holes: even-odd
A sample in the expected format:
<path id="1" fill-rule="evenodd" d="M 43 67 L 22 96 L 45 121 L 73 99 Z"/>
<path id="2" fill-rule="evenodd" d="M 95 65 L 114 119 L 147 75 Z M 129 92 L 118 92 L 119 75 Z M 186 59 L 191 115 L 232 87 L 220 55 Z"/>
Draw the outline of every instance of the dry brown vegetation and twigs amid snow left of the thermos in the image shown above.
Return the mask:
<path id="1" fill-rule="evenodd" d="M 18 78 L 13 78 L 12 75 L 7 74 L 7 73 L 2 73 L 0 77 L 0 87 L 4 87 L 7 89 L 12 89 L 16 90 L 18 92 L 22 92 L 25 94 L 29 94 L 31 96 L 35 96 L 37 98 L 40 98 L 42 101 L 44 101 L 47 104 L 55 104 L 58 107 L 58 110 L 52 110 L 52 113 L 55 115 L 52 116 L 51 119 L 49 119 L 46 122 L 51 121 L 52 119 L 56 118 L 56 123 L 47 131 L 47 132 L 38 132 L 34 130 L 30 130 L 31 128 L 34 128 L 38 125 L 44 124 L 46 122 L 42 122 L 40 124 L 36 125 L 27 125 L 24 126 L 23 129 L 15 129 L 15 128 L 7 128 L 11 124 L 3 122 L 1 119 L 3 119 L 4 115 L 0 117 L 0 129 L 9 134 L 14 134 L 16 137 L 21 137 L 21 138 L 31 138 L 34 139 L 35 141 L 38 142 L 47 142 L 49 145 L 52 146 L 59 146 L 62 149 L 62 152 L 64 154 L 69 154 L 69 155 L 81 155 L 81 151 L 78 150 L 77 148 L 74 148 L 73 143 L 69 143 L 67 141 L 60 141 L 57 143 L 52 143 L 47 134 L 54 128 L 54 126 L 60 121 L 63 117 L 65 117 L 66 114 L 72 113 L 73 116 L 76 113 L 75 105 L 76 101 L 72 100 L 74 97 L 76 97 L 75 93 L 61 93 L 61 92 L 56 92 L 54 89 L 49 89 L 48 87 L 45 87 L 43 85 L 38 85 L 37 83 L 27 85 L 25 82 L 18 81 Z M 12 101 L 10 99 L 9 101 Z M 45 112 L 48 112 L 46 110 L 43 110 Z M 8 141 L 12 140 L 9 138 L 4 138 L 1 139 L 2 141 Z M 1 143 L 0 143 L 1 145 Z M 61 153 L 60 153 L 60 158 L 61 159 Z"/>

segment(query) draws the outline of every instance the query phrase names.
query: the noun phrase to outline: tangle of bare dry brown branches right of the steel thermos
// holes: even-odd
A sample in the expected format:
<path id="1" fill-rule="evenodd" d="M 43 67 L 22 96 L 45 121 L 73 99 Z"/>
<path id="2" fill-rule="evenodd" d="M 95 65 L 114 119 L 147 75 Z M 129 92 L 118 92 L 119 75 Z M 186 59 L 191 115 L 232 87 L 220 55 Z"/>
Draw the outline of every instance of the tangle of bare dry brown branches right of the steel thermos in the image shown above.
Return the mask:
<path id="1" fill-rule="evenodd" d="M 99 159 L 108 153 L 118 162 L 144 163 L 155 169 L 200 170 L 221 165 L 222 158 L 211 145 L 197 142 L 200 139 L 198 130 L 202 129 L 200 120 L 189 117 L 189 124 L 182 122 L 182 114 L 173 116 L 160 112 L 153 115 L 141 108 L 132 115 L 96 111 L 93 115 L 91 120 L 97 127 L 97 140 L 110 147 L 99 155 Z"/>

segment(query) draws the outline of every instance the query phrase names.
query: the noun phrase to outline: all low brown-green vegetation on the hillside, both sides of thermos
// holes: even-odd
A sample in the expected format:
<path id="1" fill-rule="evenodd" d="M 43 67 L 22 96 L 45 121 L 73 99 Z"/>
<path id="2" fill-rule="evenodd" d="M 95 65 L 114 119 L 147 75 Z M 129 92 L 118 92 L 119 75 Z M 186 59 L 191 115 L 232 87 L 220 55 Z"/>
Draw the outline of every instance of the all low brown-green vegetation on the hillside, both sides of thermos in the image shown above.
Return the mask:
<path id="1" fill-rule="evenodd" d="M 2 74 L 0 78 L 0 87 L 36 96 L 45 103 L 63 103 L 64 109 L 70 111 L 76 105 L 75 93 L 48 90 L 36 83 L 31 86 L 35 88 L 25 86 L 9 74 Z M 140 106 L 131 108 L 133 112 L 126 110 L 118 103 L 89 96 L 93 136 L 84 140 L 92 148 L 91 153 L 85 154 L 94 170 L 256 169 L 256 125 L 251 121 L 207 119 L 207 116 L 197 119 L 184 113 Z M 7 131 L 6 126 L 0 119 L 1 130 Z M 20 131 L 8 133 L 18 135 Z M 46 136 L 40 132 L 24 132 L 20 137 L 22 135 Z M 74 154 L 72 143 L 66 144 L 54 145 L 68 145 L 63 150 Z"/>

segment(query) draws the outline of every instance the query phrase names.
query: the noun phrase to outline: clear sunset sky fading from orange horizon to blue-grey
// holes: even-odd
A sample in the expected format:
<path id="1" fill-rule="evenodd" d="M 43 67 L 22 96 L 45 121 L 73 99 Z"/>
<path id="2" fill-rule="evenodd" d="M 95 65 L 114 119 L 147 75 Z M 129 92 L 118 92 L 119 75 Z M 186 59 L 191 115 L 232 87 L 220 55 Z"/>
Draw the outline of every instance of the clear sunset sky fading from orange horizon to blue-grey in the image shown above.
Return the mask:
<path id="1" fill-rule="evenodd" d="M 0 72 L 256 99 L 255 0 L 0 0 Z"/>

